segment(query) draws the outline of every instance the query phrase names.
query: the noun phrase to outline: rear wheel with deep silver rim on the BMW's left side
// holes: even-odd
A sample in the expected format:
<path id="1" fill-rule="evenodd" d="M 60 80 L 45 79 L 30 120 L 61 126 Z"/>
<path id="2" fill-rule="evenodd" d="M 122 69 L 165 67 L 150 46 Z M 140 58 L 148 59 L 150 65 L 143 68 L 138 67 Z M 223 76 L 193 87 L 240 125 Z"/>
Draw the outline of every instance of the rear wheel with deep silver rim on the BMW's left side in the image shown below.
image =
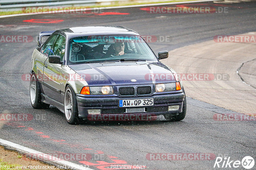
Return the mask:
<path id="1" fill-rule="evenodd" d="M 49 108 L 50 104 L 41 102 L 41 89 L 35 73 L 30 78 L 29 94 L 30 102 L 34 109 Z"/>

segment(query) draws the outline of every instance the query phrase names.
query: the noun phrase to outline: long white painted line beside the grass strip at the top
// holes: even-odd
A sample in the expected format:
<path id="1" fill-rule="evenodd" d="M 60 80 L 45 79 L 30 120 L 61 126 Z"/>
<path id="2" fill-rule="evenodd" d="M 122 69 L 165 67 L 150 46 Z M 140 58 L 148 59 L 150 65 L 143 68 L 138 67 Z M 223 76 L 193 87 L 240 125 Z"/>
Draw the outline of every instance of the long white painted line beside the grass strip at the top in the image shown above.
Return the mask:
<path id="1" fill-rule="evenodd" d="M 124 5 L 124 6 L 110 6 L 110 7 L 97 7 L 97 8 L 87 8 L 87 9 L 74 9 L 74 10 L 61 10 L 61 11 L 48 11 L 48 12 L 35 12 L 35 13 L 21 13 L 12 15 L 2 15 L 0 18 L 6 17 L 17 17 L 24 15 L 37 15 L 37 14 L 52 14 L 60 12 L 70 12 L 70 11 L 89 11 L 89 10 L 99 10 L 99 9 L 117 9 L 117 8 L 132 8 L 132 7 L 143 7 L 143 6 L 157 6 L 157 5 L 171 5 L 171 4 L 188 4 L 188 3 L 198 3 L 198 2 L 212 2 L 212 1 L 223 1 L 223 0 L 198 0 L 198 1 L 183 1 L 183 2 L 169 2 L 169 3 L 157 3 L 157 4 L 140 4 L 140 5 Z"/>

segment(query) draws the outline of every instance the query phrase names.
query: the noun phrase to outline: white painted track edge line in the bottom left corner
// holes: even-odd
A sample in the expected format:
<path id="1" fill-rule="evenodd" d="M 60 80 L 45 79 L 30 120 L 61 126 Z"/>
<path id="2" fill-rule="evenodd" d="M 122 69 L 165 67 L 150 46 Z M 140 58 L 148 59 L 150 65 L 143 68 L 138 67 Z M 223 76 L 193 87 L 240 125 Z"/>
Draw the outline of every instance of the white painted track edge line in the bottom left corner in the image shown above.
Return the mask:
<path id="1" fill-rule="evenodd" d="M 48 155 L 48 154 L 45 154 L 43 152 L 39 152 L 39 151 L 36 151 L 34 149 L 30 149 L 30 148 L 27 148 L 25 146 L 15 144 L 13 142 L 10 142 L 8 140 L 4 140 L 4 139 L 1 139 L 1 138 L 0 138 L 0 145 L 9 146 L 9 147 L 11 147 L 11 148 L 13 148 L 17 151 L 25 152 L 25 153 L 31 154 L 31 155 L 33 155 L 33 154 L 36 154 L 36 155 L 43 154 L 45 158 L 52 158 L 52 160 L 50 160 L 51 162 L 54 162 L 55 164 L 61 165 L 61 166 L 65 165 L 67 168 L 68 167 L 73 167 L 72 169 L 77 169 L 77 170 L 93 170 L 91 168 L 87 168 L 87 167 L 69 162 L 67 160 L 58 160 L 59 158 L 53 157 L 52 155 Z M 40 161 L 43 161 L 43 160 L 40 160 Z"/>

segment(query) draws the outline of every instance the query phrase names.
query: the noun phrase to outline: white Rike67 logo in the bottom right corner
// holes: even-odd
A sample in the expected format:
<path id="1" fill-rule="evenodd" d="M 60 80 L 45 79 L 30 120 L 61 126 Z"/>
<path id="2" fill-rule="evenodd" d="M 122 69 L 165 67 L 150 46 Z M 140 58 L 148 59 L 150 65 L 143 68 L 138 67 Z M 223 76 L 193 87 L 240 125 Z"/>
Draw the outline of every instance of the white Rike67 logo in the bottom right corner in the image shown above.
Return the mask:
<path id="1" fill-rule="evenodd" d="M 227 157 L 225 157 L 224 159 L 222 157 L 217 157 L 213 167 L 234 169 L 242 165 L 245 169 L 251 169 L 254 164 L 254 159 L 251 156 L 245 156 L 242 161 L 231 160 L 230 157 L 228 157 L 228 159 Z"/>

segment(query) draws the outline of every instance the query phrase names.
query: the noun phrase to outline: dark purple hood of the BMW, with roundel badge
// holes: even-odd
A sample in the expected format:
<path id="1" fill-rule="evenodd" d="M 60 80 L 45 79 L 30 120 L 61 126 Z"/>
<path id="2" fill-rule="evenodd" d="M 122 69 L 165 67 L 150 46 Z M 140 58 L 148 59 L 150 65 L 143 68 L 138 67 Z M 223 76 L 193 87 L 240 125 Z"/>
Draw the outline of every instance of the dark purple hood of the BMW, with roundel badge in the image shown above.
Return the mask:
<path id="1" fill-rule="evenodd" d="M 161 62 L 124 61 L 69 65 L 89 86 L 175 82 L 172 71 Z M 136 82 L 131 80 L 135 79 Z"/>

